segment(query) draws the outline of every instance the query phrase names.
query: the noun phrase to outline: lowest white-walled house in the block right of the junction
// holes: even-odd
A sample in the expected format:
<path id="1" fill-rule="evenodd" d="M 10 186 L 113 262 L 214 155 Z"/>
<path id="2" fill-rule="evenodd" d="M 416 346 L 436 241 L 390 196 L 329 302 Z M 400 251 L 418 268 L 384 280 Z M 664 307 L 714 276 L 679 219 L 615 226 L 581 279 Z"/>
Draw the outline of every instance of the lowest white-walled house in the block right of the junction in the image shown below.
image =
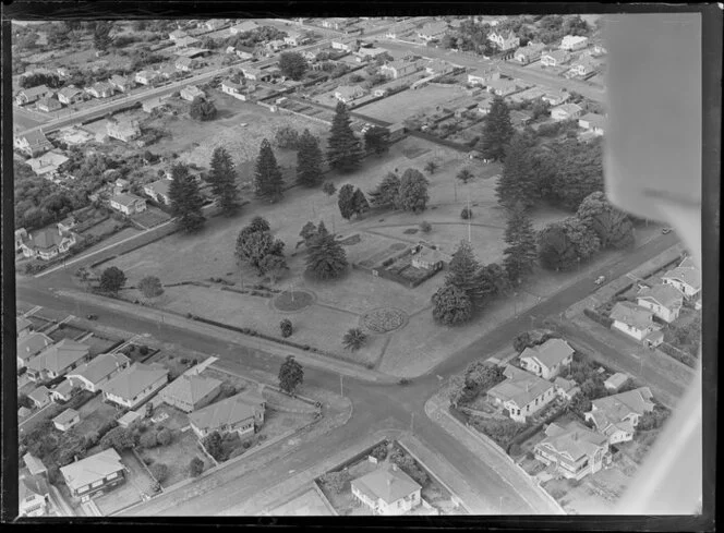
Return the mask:
<path id="1" fill-rule="evenodd" d="M 568 480 L 582 480 L 611 464 L 608 439 L 583 424 L 548 424 L 545 438 L 533 448 L 535 459 Z"/>

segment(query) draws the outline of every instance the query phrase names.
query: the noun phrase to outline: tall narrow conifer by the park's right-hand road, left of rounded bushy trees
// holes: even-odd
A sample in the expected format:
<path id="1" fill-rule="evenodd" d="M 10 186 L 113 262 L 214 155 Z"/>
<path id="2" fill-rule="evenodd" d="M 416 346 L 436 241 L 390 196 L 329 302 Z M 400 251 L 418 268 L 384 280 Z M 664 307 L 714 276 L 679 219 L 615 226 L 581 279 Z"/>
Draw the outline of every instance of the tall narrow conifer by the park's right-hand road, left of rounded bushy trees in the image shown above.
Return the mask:
<path id="1" fill-rule="evenodd" d="M 508 247 L 503 251 L 503 265 L 508 279 L 518 286 L 524 276 L 533 271 L 538 261 L 535 230 L 522 206 L 518 206 L 508 218 L 505 242 Z"/>

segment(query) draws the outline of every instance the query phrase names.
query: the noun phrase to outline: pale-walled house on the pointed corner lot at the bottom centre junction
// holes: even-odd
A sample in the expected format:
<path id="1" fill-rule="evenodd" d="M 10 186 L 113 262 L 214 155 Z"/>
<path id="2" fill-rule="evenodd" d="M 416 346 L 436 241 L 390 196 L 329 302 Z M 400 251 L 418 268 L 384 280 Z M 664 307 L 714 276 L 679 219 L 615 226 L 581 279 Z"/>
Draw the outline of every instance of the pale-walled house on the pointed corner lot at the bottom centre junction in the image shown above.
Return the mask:
<path id="1" fill-rule="evenodd" d="M 351 489 L 375 514 L 402 514 L 421 504 L 422 486 L 396 464 L 352 480 Z"/>

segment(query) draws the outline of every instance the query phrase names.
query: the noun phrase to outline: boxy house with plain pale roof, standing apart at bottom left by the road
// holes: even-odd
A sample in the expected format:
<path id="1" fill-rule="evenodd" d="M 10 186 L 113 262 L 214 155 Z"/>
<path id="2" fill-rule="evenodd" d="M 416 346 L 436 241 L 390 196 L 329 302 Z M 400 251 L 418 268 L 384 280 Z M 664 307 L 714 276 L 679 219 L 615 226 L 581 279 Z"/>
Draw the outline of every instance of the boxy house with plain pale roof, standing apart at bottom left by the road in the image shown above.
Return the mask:
<path id="1" fill-rule="evenodd" d="M 95 456 L 62 467 L 60 473 L 70 488 L 71 495 L 87 501 L 90 499 L 90 495 L 123 483 L 125 465 L 121 462 L 118 451 L 108 448 Z"/>

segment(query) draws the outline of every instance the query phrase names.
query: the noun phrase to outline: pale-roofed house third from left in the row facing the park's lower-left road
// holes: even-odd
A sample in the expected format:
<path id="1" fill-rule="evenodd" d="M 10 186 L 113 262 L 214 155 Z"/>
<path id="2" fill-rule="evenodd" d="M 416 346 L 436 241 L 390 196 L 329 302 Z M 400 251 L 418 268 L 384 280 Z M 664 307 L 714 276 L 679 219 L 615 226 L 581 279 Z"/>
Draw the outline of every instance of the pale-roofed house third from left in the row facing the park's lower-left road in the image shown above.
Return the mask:
<path id="1" fill-rule="evenodd" d="M 168 383 L 168 370 L 157 364 L 134 363 L 100 386 L 104 400 L 135 409 Z"/>

